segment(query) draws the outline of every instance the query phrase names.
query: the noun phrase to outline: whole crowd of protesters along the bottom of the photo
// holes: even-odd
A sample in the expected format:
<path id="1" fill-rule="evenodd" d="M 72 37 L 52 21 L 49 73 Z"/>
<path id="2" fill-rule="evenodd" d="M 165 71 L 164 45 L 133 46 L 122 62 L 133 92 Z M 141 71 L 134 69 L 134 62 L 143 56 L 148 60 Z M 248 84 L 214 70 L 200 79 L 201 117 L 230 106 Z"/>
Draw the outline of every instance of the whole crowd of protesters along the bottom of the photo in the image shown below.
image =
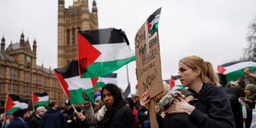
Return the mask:
<path id="1" fill-rule="evenodd" d="M 248 67 L 247 76 L 256 79 Z M 157 124 L 159 128 L 175 127 L 256 127 L 253 109 L 256 104 L 256 86 L 247 84 L 241 88 L 237 81 L 227 83 L 224 74 L 216 74 L 209 61 L 198 56 L 188 56 L 179 61 L 179 74 L 183 90 L 163 82 L 163 92 L 154 97 Z M 161 106 L 166 95 L 178 92 L 184 97 L 175 97 L 172 104 Z M 149 93 L 134 97 L 124 97 L 122 90 L 115 84 L 106 84 L 93 95 L 95 102 L 83 93 L 85 102 L 81 109 L 74 109 L 69 100 L 65 101 L 65 111 L 56 109 L 56 102 L 49 101 L 36 108 L 18 109 L 14 113 L 5 113 L 1 118 L 2 128 L 137 128 L 150 127 L 148 103 Z M 171 97 L 172 98 L 172 97 Z M 141 99 L 141 100 L 140 100 Z M 175 102 L 174 102 L 175 100 Z M 243 113 L 243 106 L 246 113 Z M 244 122 L 244 115 L 246 121 Z"/>

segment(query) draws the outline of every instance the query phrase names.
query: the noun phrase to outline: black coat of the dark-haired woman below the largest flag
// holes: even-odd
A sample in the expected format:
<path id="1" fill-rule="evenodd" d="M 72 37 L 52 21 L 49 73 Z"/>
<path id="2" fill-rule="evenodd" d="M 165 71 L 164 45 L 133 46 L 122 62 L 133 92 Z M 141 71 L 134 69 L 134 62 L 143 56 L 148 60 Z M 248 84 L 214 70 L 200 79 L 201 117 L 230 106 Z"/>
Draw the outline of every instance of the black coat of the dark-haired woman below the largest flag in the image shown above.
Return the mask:
<path id="1" fill-rule="evenodd" d="M 124 99 L 115 105 L 112 113 L 107 119 L 108 128 L 137 128 L 138 122 L 134 118 L 131 109 L 126 105 Z"/>

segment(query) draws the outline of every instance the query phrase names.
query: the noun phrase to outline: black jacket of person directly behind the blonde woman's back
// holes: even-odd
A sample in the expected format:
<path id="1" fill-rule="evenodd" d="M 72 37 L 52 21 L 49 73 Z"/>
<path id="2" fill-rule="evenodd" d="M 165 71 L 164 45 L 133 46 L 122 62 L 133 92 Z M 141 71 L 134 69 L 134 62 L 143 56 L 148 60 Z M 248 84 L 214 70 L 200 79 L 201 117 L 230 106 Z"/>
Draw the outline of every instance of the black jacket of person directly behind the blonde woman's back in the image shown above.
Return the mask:
<path id="1" fill-rule="evenodd" d="M 243 113 L 241 111 L 241 103 L 239 102 L 239 92 L 237 91 L 237 88 L 227 84 L 223 86 L 225 91 L 228 93 L 228 98 L 230 102 L 230 106 L 232 108 L 233 114 L 234 114 L 234 120 L 236 124 L 236 128 L 243 128 Z"/>

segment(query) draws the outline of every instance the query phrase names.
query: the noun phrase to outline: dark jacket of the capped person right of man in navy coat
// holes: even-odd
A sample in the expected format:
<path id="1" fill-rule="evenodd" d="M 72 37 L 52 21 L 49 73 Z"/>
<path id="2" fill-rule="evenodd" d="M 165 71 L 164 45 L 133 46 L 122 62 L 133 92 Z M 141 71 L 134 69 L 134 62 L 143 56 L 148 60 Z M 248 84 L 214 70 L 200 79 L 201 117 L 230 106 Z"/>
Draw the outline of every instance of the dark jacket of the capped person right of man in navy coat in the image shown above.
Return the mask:
<path id="1" fill-rule="evenodd" d="M 68 122 L 69 128 L 78 128 L 80 124 L 80 119 L 76 117 L 76 114 L 74 112 L 74 108 L 71 108 L 69 110 L 63 111 L 63 114 Z M 68 121 L 70 120 L 70 121 Z"/>

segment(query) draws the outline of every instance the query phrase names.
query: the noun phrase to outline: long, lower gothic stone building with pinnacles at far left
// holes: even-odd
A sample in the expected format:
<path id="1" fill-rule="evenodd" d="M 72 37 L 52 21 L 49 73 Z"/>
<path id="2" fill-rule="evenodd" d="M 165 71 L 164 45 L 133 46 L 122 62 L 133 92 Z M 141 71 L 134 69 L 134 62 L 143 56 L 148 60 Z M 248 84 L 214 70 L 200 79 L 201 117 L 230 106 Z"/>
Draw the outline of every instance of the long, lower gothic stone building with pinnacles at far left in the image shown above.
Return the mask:
<path id="1" fill-rule="evenodd" d="M 57 106 L 65 106 L 65 96 L 54 71 L 51 67 L 36 65 L 36 40 L 32 50 L 22 33 L 19 43 L 11 42 L 6 50 L 4 47 L 3 37 L 0 52 L 0 99 L 6 100 L 8 93 L 19 95 L 28 99 L 31 107 L 33 92 L 47 92 L 49 100 L 55 100 Z"/>

